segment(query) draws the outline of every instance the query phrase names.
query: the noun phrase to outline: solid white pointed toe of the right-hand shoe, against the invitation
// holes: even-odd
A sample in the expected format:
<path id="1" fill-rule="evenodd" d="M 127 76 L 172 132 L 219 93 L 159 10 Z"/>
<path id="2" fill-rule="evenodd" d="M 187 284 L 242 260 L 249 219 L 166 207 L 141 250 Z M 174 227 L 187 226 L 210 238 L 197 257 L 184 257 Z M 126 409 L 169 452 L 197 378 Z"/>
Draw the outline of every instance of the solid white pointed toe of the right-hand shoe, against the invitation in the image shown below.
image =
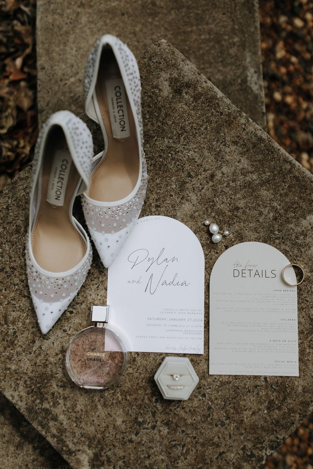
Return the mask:
<path id="1" fill-rule="evenodd" d="M 90 232 L 92 241 L 105 267 L 109 267 L 112 264 L 126 241 L 130 230 L 131 227 L 127 227 L 114 234 L 102 234 L 96 231 Z"/>

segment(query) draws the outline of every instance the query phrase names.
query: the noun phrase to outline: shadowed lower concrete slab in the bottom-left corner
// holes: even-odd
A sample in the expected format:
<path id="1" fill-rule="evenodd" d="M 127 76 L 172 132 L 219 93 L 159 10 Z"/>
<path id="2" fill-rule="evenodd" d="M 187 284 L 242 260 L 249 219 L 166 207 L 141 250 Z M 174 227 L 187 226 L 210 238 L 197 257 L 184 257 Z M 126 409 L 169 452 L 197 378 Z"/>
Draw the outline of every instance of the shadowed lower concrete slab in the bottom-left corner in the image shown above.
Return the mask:
<path id="1" fill-rule="evenodd" d="M 0 466 L 4 469 L 70 469 L 61 455 L 1 393 L 0 454 Z"/>

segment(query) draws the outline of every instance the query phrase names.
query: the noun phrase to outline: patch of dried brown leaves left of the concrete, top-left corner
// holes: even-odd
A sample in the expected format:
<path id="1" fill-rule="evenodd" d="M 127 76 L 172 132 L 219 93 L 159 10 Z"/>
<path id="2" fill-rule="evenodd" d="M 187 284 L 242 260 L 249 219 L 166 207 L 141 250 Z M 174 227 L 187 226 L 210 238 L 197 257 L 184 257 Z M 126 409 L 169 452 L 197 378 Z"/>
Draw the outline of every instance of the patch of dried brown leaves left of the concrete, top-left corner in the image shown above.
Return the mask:
<path id="1" fill-rule="evenodd" d="M 0 176 L 6 174 L 0 178 L 2 187 L 31 161 L 38 135 L 32 106 L 36 0 L 0 0 L 0 11 Z"/>

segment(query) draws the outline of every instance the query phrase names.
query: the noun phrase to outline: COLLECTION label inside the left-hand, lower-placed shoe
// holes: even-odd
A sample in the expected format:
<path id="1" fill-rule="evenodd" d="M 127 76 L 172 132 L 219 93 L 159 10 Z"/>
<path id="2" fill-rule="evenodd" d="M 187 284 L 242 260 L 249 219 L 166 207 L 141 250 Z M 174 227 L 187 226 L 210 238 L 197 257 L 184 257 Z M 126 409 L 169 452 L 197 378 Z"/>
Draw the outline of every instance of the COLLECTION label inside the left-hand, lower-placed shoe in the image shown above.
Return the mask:
<path id="1" fill-rule="evenodd" d="M 61 207 L 64 204 L 72 159 L 69 151 L 57 150 L 50 171 L 46 201 Z"/>

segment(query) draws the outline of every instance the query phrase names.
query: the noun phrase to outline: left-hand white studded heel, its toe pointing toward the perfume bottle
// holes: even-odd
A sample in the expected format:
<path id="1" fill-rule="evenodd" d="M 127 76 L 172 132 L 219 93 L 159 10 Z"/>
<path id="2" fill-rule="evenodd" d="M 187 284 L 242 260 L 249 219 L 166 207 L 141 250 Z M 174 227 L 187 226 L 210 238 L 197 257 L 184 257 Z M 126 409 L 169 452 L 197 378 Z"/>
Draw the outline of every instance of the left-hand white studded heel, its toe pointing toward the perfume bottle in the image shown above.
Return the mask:
<path id="1" fill-rule="evenodd" d="M 92 136 L 83 121 L 60 111 L 41 129 L 32 168 L 26 265 L 31 298 L 46 334 L 84 283 L 92 248 L 72 215 L 89 185 Z"/>

